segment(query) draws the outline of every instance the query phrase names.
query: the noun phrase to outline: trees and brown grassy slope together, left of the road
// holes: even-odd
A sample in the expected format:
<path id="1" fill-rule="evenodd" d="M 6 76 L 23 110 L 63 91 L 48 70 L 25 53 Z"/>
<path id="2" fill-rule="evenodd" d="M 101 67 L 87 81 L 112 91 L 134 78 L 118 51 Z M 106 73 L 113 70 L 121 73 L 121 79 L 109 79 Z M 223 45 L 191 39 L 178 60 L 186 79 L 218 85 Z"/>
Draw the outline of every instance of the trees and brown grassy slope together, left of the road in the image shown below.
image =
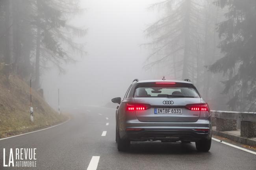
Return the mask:
<path id="1" fill-rule="evenodd" d="M 64 72 L 64 63 L 86 54 L 83 44 L 74 41 L 74 37 L 84 36 L 86 29 L 70 24 L 72 17 L 82 12 L 79 0 L 0 1 L 0 137 L 67 119 L 44 100 L 41 75 L 53 66 Z"/>

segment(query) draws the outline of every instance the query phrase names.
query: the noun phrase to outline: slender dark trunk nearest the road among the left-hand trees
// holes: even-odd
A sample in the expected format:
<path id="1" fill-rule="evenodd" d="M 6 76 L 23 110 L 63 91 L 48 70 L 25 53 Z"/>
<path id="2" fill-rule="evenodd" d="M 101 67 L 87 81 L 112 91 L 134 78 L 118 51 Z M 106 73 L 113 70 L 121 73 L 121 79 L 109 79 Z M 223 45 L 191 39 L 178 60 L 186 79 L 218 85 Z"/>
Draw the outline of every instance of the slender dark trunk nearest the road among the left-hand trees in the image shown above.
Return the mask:
<path id="1" fill-rule="evenodd" d="M 37 27 L 37 42 L 36 42 L 36 54 L 35 54 L 35 88 L 40 87 L 40 40 L 41 29 Z"/>

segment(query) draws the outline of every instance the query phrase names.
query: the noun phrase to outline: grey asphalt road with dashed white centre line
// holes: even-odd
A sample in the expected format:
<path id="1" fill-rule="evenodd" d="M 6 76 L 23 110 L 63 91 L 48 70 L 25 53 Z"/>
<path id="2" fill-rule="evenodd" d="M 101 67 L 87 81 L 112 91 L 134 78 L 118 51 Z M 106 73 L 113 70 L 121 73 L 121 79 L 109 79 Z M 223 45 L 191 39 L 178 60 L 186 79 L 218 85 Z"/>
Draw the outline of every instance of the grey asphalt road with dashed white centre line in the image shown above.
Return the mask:
<path id="1" fill-rule="evenodd" d="M 89 167 L 97 166 L 98 170 L 256 170 L 256 155 L 216 141 L 212 141 L 207 153 L 197 152 L 195 143 L 158 141 L 134 142 L 128 152 L 119 152 L 115 143 L 115 109 L 87 107 L 82 110 L 74 111 L 73 118 L 62 125 L 0 140 L 0 169 L 8 169 L 3 167 L 3 148 L 36 148 L 35 169 L 40 170 L 87 169 L 90 162 Z M 106 136 L 102 136 L 104 133 Z M 91 161 L 93 156 L 99 157 Z"/>

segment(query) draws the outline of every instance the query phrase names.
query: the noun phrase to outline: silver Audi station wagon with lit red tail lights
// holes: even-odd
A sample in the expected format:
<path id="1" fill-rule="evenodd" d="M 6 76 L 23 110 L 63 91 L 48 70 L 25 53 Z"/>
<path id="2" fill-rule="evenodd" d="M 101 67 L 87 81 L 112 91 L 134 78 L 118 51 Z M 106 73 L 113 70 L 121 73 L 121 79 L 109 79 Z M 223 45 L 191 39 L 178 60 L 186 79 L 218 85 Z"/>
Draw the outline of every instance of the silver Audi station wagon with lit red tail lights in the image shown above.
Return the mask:
<path id="1" fill-rule="evenodd" d="M 116 141 L 120 151 L 130 141 L 195 142 L 198 151 L 211 147 L 211 112 L 188 80 L 135 79 L 124 99 L 113 98 Z"/>

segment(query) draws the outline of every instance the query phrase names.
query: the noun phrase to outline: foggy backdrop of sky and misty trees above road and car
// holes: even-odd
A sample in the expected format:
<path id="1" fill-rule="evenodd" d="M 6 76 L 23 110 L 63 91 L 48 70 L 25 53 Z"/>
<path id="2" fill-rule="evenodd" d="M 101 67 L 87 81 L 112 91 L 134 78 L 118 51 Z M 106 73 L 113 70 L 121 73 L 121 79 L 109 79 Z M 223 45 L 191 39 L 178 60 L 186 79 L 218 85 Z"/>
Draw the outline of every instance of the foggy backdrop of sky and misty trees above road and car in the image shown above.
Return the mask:
<path id="1" fill-rule="evenodd" d="M 58 89 L 61 108 L 104 106 L 135 78 L 163 76 L 190 79 L 213 109 L 256 109 L 254 2 L 32 2 L 0 2 L 0 72 L 31 80 L 54 109 Z"/>

